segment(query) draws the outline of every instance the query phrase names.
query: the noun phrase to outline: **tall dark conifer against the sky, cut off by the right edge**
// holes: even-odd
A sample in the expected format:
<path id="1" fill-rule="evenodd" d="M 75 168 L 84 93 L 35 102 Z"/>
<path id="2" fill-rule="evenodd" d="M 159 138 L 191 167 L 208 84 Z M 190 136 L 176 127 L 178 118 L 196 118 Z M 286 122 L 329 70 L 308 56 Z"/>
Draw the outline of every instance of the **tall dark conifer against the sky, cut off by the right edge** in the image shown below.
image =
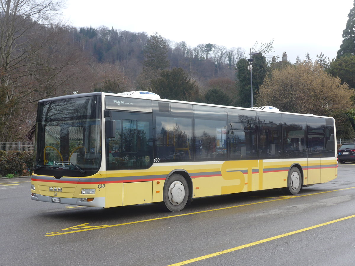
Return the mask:
<path id="1" fill-rule="evenodd" d="M 348 22 L 346 22 L 343 31 L 343 43 L 337 53 L 337 58 L 345 54 L 355 54 L 355 0 L 354 7 L 350 9 L 348 14 Z"/>

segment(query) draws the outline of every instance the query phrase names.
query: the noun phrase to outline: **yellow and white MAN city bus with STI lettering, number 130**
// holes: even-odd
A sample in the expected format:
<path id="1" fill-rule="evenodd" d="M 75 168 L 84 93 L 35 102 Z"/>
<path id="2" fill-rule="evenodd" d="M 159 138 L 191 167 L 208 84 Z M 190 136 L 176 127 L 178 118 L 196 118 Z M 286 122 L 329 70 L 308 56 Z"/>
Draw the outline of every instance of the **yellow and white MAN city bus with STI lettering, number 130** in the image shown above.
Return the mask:
<path id="1" fill-rule="evenodd" d="M 85 93 L 38 103 L 31 199 L 93 207 L 302 187 L 337 177 L 334 118 Z"/>

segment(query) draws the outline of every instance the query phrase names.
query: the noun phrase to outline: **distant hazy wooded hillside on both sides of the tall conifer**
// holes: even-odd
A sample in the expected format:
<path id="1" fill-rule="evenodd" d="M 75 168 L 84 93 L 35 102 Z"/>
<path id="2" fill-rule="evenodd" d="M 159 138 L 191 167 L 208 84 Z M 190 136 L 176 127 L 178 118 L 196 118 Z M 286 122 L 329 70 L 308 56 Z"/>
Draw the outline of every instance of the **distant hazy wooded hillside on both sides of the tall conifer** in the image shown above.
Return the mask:
<path id="1" fill-rule="evenodd" d="M 80 45 L 91 61 L 115 65 L 132 82 L 142 72 L 144 58 L 149 53 L 145 51 L 150 37 L 147 33 L 118 31 L 102 26 L 98 29 L 72 28 L 70 34 L 73 44 Z M 173 43 L 164 38 L 163 41 L 168 61 L 166 68 L 183 68 L 202 86 L 214 78 L 234 79 L 235 64 L 245 56 L 241 48 L 227 50 L 217 44 L 200 44 L 191 48 L 184 41 Z"/>

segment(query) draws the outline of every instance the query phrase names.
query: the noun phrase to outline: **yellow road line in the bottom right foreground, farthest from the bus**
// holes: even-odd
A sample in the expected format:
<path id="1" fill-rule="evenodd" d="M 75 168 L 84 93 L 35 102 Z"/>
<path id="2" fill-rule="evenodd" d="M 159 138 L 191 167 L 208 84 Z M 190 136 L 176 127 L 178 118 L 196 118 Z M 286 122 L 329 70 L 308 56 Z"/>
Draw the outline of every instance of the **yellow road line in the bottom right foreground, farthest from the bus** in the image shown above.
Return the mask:
<path id="1" fill-rule="evenodd" d="M 232 251 L 236 251 L 236 250 L 239 250 L 239 249 L 248 248 L 250 246 L 255 246 L 255 245 L 262 244 L 262 243 L 265 243 L 265 242 L 268 242 L 268 241 L 271 241 L 271 240 L 275 240 L 275 239 L 282 238 L 282 237 L 287 237 L 289 235 L 305 232 L 305 231 L 308 231 L 308 230 L 311 230 L 311 229 L 315 229 L 315 228 L 318 228 L 318 227 L 321 227 L 321 226 L 325 226 L 325 225 L 330 225 L 331 223 L 344 221 L 346 219 L 350 219 L 350 218 L 354 218 L 354 217 L 355 217 L 355 215 L 347 216 L 347 217 L 340 218 L 340 219 L 333 220 L 333 221 L 329 221 L 329 222 L 326 222 L 326 223 L 321 223 L 319 225 L 306 227 L 306 228 L 303 228 L 303 229 L 300 229 L 300 230 L 296 230 L 296 231 L 293 231 L 293 232 L 276 235 L 275 237 L 269 237 L 269 238 L 266 238 L 266 239 L 263 239 L 263 240 L 259 240 L 259 241 L 256 241 L 256 242 L 249 243 L 249 244 L 237 246 L 235 248 L 226 249 L 226 250 L 222 250 L 222 251 L 219 251 L 219 252 L 216 252 L 216 253 L 212 253 L 212 254 L 208 254 L 208 255 L 205 255 L 205 256 L 197 257 L 195 259 L 181 261 L 181 262 L 178 262 L 178 263 L 175 263 L 175 264 L 171 264 L 171 265 L 168 265 L 168 266 L 180 266 L 180 265 L 190 264 L 192 262 L 196 262 L 196 261 L 199 261 L 199 260 L 205 260 L 205 259 L 208 259 L 208 258 L 211 258 L 211 257 L 219 256 L 219 255 L 226 254 L 226 253 L 229 253 L 229 252 L 232 252 Z"/>

